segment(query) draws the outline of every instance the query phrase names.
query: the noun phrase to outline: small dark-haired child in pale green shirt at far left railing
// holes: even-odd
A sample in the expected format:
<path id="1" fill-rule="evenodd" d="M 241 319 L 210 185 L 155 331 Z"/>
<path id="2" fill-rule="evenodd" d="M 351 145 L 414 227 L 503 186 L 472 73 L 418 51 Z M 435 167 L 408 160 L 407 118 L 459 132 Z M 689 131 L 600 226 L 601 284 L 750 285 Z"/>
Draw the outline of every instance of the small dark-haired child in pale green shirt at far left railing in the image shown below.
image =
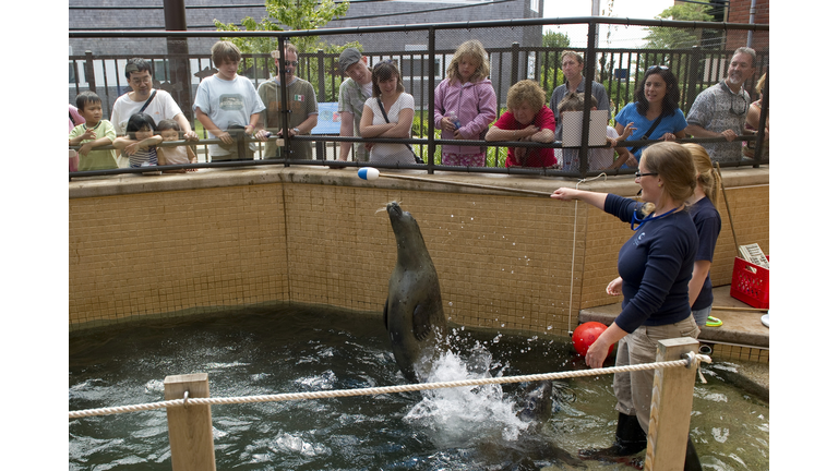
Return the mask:
<path id="1" fill-rule="evenodd" d="M 113 149 L 93 150 L 94 147 L 110 145 L 117 138 L 117 131 L 110 121 L 101 119 L 101 98 L 93 92 L 82 92 L 75 97 L 75 106 L 85 121 L 70 131 L 70 145 L 82 146 L 79 149 L 79 170 L 117 168 Z"/>

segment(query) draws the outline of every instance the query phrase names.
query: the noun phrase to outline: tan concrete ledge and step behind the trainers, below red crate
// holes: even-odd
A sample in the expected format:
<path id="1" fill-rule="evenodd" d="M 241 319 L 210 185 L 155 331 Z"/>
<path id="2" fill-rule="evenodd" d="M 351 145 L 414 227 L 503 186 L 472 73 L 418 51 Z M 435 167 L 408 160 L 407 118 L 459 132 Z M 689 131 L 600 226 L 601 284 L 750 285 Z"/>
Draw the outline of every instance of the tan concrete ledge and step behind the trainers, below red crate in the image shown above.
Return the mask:
<path id="1" fill-rule="evenodd" d="M 726 310 L 725 307 L 752 309 L 730 295 L 730 285 L 714 288 L 713 295 L 714 303 L 710 315 L 718 317 L 722 325 L 720 327 L 703 328 L 702 334 L 698 336 L 698 340 L 703 345 L 706 343 L 711 348 L 730 345 L 734 347 L 768 349 L 769 329 L 761 321 L 765 312 Z M 582 310 L 579 312 L 579 324 L 595 321 L 610 325 L 616 315 L 620 314 L 620 302 Z M 720 360 L 715 361 L 707 369 L 745 391 L 766 401 L 768 400 L 768 363 Z"/>

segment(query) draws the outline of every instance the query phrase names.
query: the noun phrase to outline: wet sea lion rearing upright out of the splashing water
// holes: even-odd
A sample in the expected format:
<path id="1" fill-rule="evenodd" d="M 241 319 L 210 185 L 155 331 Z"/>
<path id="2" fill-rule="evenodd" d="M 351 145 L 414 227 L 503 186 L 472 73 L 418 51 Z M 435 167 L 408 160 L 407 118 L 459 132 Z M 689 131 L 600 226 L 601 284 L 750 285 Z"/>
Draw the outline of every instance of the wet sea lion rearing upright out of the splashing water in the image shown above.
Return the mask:
<path id="1" fill-rule="evenodd" d="M 440 280 L 416 219 L 397 202 L 387 204 L 398 257 L 390 276 L 384 325 L 398 367 L 411 383 L 424 383 L 433 360 L 447 350 Z"/>

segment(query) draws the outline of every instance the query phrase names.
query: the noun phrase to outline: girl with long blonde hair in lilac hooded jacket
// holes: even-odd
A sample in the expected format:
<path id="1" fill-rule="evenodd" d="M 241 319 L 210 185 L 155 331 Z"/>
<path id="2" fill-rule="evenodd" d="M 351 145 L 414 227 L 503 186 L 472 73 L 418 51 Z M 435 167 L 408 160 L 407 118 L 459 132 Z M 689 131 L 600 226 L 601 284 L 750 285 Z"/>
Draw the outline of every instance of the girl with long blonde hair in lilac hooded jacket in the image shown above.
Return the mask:
<path id="1" fill-rule="evenodd" d="M 433 93 L 433 124 L 444 140 L 482 140 L 498 116 L 496 98 L 489 76 L 483 45 L 467 40 L 459 45 L 447 69 L 447 78 Z M 483 167 L 486 150 L 475 146 L 442 146 L 442 165 Z"/>

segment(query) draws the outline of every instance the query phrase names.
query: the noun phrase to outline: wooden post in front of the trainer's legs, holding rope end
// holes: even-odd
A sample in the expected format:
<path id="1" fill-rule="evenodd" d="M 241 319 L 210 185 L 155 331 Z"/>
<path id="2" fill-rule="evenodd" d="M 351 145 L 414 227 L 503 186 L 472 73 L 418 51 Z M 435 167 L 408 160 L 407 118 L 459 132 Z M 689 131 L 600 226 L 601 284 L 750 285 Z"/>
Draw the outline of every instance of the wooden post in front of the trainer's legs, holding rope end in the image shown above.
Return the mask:
<path id="1" fill-rule="evenodd" d="M 691 337 L 660 340 L 656 361 L 681 360 L 683 353 L 697 351 L 698 341 Z M 690 367 L 655 371 L 644 470 L 681 471 L 684 469 L 697 367 L 696 360 Z"/>

